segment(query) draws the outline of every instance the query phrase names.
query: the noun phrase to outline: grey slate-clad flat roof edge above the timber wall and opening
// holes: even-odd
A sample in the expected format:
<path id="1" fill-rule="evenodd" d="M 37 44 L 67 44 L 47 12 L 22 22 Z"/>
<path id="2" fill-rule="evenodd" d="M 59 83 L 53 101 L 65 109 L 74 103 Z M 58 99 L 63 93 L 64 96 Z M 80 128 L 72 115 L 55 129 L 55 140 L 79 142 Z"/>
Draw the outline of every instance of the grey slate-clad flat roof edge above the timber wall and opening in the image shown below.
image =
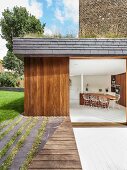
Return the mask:
<path id="1" fill-rule="evenodd" d="M 13 52 L 19 56 L 127 56 L 126 38 L 14 38 Z M 61 55 L 61 56 L 60 56 Z"/>

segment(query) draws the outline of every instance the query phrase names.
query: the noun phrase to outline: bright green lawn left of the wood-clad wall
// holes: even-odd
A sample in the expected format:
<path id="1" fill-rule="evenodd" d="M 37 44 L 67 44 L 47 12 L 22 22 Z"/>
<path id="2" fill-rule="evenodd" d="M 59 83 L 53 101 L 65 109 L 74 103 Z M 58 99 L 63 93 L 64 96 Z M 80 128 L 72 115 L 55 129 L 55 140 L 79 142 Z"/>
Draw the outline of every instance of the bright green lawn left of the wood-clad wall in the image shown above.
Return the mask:
<path id="1" fill-rule="evenodd" d="M 24 110 L 24 93 L 0 91 L 0 123 L 14 119 Z"/>

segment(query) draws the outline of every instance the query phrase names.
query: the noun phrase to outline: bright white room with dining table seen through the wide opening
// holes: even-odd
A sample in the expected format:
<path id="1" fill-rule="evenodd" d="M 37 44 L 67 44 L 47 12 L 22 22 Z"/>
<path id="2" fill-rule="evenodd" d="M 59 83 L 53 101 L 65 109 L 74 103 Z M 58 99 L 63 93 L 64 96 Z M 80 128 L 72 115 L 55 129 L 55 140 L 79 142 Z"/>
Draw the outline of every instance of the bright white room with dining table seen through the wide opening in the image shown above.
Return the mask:
<path id="1" fill-rule="evenodd" d="M 125 106 L 125 59 L 70 60 L 72 122 L 125 122 Z"/>

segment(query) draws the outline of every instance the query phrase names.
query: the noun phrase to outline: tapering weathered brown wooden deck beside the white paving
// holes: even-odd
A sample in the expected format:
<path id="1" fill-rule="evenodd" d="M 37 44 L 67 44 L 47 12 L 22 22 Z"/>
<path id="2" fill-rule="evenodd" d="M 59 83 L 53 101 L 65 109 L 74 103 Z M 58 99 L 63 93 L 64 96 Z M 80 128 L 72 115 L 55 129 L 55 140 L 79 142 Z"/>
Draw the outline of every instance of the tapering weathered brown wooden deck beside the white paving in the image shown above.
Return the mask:
<path id="1" fill-rule="evenodd" d="M 80 158 L 70 119 L 67 118 L 33 159 L 32 169 L 81 170 Z"/>

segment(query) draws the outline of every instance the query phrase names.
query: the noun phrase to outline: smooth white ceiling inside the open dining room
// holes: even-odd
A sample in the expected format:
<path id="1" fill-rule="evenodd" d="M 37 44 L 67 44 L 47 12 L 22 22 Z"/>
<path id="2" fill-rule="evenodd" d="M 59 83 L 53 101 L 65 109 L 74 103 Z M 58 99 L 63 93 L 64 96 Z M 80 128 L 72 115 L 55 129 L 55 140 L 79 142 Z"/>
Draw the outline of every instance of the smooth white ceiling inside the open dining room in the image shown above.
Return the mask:
<path id="1" fill-rule="evenodd" d="M 116 75 L 126 72 L 125 59 L 71 59 L 70 75 Z"/>

